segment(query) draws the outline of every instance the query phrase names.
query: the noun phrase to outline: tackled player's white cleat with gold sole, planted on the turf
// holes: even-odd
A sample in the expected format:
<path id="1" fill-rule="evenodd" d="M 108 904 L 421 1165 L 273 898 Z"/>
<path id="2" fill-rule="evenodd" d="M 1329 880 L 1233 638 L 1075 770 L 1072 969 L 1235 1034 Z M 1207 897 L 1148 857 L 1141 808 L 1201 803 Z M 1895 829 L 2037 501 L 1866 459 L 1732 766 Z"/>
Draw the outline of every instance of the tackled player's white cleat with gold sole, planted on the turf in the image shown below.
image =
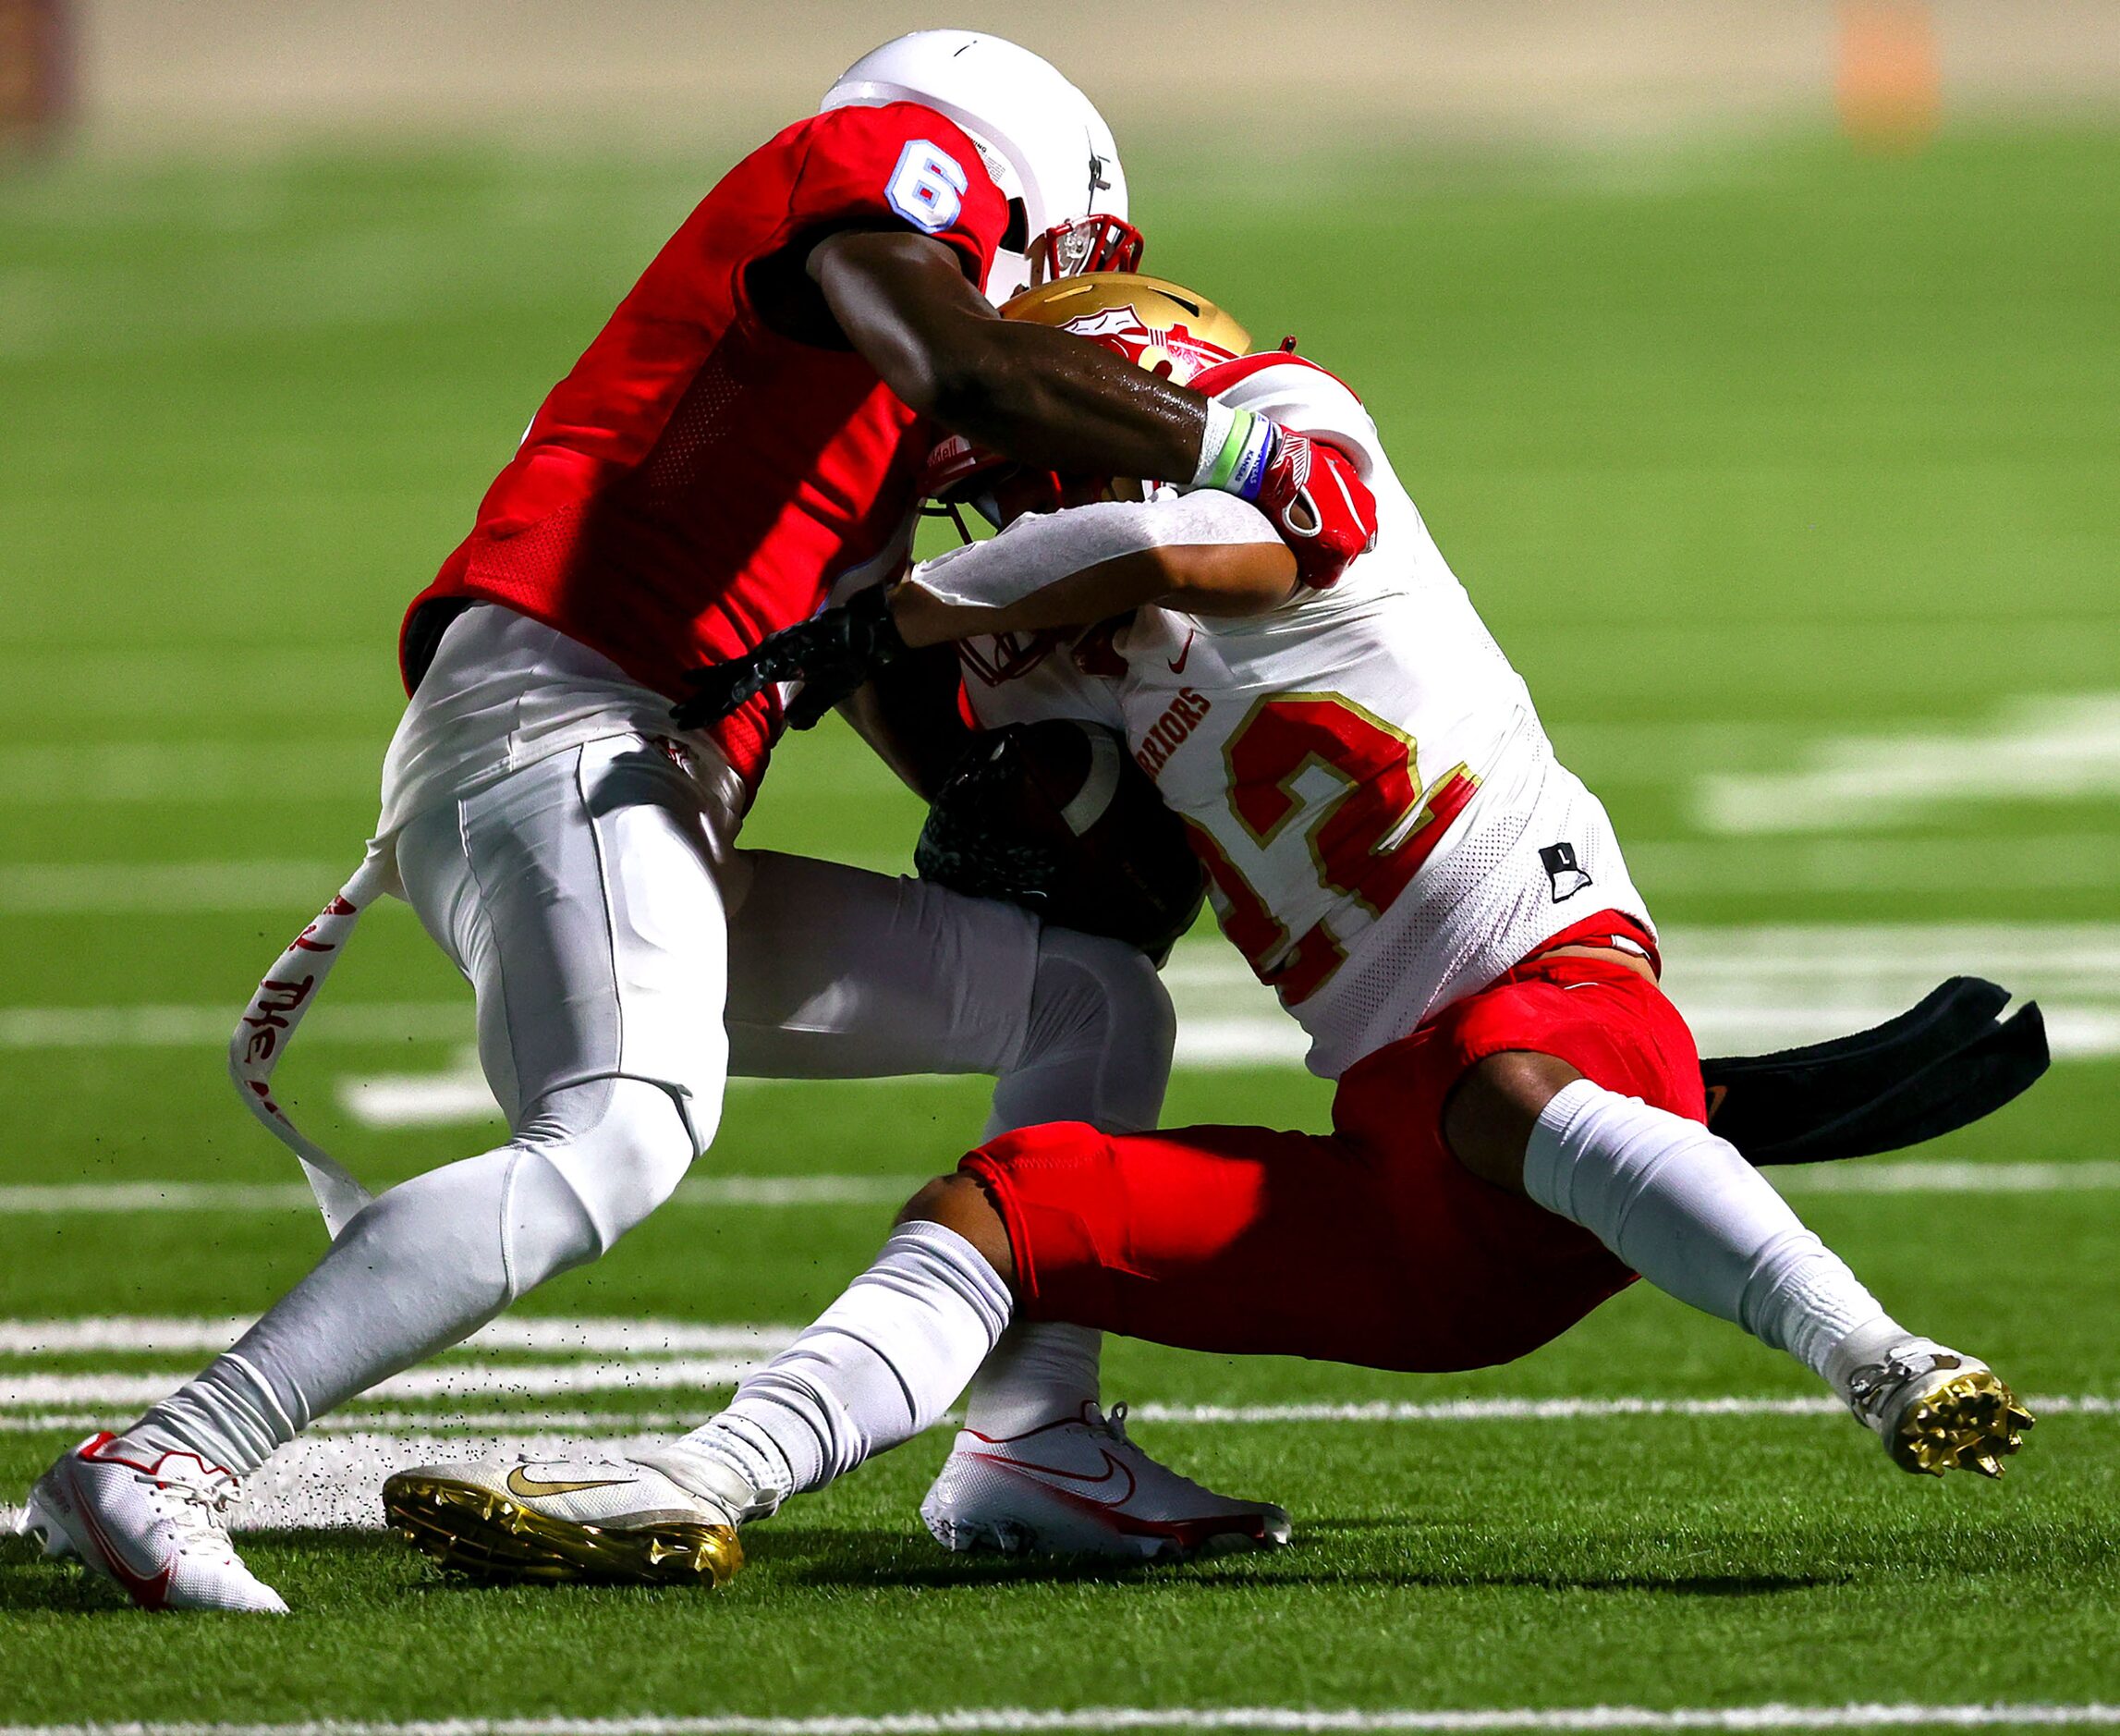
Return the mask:
<path id="1" fill-rule="evenodd" d="M 676 1469 L 676 1467 L 672 1467 Z M 424 1465 L 384 1484 L 384 1516 L 420 1554 L 475 1579 L 600 1579 L 725 1586 L 744 1564 L 736 1526 L 750 1490 L 676 1482 L 649 1458 Z"/>

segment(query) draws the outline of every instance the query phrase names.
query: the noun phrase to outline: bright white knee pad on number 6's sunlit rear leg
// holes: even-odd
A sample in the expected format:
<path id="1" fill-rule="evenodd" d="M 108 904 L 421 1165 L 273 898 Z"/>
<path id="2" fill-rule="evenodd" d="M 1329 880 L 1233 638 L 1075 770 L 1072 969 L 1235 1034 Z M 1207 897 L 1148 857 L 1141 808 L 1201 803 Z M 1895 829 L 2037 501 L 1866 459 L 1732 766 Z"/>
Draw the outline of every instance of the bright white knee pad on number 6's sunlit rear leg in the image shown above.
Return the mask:
<path id="1" fill-rule="evenodd" d="M 676 1096 L 647 1079 L 547 1092 L 511 1147 L 507 1236 L 517 1293 L 602 1255 L 670 1198 L 693 1157 Z"/>

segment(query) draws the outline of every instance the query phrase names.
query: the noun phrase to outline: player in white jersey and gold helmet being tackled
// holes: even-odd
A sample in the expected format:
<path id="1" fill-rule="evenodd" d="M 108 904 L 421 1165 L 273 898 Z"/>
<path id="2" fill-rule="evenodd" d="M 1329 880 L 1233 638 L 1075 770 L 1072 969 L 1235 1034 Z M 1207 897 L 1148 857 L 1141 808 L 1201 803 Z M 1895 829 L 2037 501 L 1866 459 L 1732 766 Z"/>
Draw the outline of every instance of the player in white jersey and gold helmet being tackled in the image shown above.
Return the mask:
<path id="1" fill-rule="evenodd" d="M 1637 1274 L 1802 1361 L 1904 1469 L 1999 1475 L 2029 1427 L 2010 1388 L 1893 1321 L 1707 1130 L 1611 822 L 1357 396 L 1293 354 L 1242 354 L 1227 316 L 1155 280 L 1049 286 L 1009 314 L 1308 432 L 1306 511 L 1342 534 L 1359 479 L 1372 549 L 1317 587 L 1227 496 L 1030 513 L 789 630 L 712 702 L 744 678 L 848 687 L 899 646 L 958 640 L 979 723 L 1117 731 L 1185 820 L 1225 935 L 1338 1081 L 1333 1132 L 1003 1134 L 922 1189 L 876 1265 L 706 1427 L 632 1460 L 528 1467 L 528 1488 L 566 1486 L 551 1496 L 500 1463 L 409 1473 L 386 1492 L 399 1522 L 483 1513 L 492 1564 L 534 1577 L 818 1488 L 939 1418 L 1011 1321 L 1465 1369 L 1545 1344 Z M 1047 1545 L 1119 1492 L 1094 1452 L 977 1429 L 952 1477 L 960 1496 L 1035 1488 L 1047 1535 L 1013 1541 Z"/>

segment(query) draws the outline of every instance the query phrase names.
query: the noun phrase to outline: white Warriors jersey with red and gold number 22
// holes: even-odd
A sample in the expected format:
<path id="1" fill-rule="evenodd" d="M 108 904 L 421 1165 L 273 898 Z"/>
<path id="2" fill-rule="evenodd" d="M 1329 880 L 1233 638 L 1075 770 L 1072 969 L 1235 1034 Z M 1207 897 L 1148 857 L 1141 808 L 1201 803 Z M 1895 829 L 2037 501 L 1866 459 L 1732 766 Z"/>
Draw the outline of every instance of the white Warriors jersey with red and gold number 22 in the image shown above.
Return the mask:
<path id="1" fill-rule="evenodd" d="M 988 727 L 1075 716 L 1124 733 L 1189 822 L 1223 933 L 1310 1032 L 1312 1073 L 1336 1079 L 1584 918 L 1649 916 L 1361 401 L 1289 356 L 1219 373 L 1240 375 L 1223 403 L 1355 456 L 1376 547 L 1333 589 L 1259 617 L 1143 608 L 1028 657 L 973 640 L 965 689 Z"/>

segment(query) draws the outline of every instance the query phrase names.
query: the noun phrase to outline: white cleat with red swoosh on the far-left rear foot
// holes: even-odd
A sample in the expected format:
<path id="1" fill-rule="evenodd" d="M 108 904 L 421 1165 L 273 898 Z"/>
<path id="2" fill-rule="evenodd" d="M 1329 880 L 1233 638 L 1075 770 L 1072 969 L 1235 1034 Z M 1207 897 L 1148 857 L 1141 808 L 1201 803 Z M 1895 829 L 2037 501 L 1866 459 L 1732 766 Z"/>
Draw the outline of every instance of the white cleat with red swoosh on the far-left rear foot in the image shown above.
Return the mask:
<path id="1" fill-rule="evenodd" d="M 45 1556 L 76 1556 L 142 1609 L 286 1615 L 229 1541 L 235 1477 L 191 1452 L 146 1456 L 91 1435 L 30 1490 L 17 1530 L 42 1533 Z"/>

